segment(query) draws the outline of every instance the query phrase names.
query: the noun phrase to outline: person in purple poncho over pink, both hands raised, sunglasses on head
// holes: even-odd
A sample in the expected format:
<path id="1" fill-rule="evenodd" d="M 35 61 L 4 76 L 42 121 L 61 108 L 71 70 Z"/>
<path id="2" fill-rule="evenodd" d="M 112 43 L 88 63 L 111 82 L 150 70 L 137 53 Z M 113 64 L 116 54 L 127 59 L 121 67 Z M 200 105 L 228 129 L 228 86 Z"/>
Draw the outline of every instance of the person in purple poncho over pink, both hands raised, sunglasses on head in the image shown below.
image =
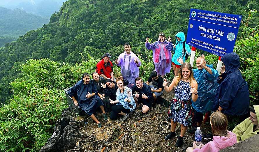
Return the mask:
<path id="1" fill-rule="evenodd" d="M 146 48 L 148 50 L 153 50 L 153 61 L 155 64 L 155 71 L 158 75 L 164 78 L 166 73 L 170 73 L 171 70 L 171 60 L 172 60 L 172 39 L 168 37 L 168 41 L 165 38 L 164 33 L 159 33 L 158 41 L 150 44 L 148 42 L 149 38 L 146 38 Z"/>

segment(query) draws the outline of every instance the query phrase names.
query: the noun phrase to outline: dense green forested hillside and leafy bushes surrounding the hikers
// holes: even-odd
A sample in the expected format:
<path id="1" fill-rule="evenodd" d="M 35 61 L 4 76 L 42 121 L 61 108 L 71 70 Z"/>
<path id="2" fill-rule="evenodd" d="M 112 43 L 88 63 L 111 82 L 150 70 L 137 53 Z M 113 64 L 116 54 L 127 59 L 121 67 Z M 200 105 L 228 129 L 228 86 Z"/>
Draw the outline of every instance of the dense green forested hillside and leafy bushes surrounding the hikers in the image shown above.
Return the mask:
<path id="1" fill-rule="evenodd" d="M 38 151 L 66 107 L 63 89 L 82 72 L 94 71 L 103 53 L 111 53 L 114 61 L 122 45 L 131 43 L 143 61 L 140 75 L 147 77 L 154 66 L 144 49 L 145 38 L 154 41 L 163 31 L 174 43 L 177 32 L 187 33 L 191 8 L 243 15 L 234 51 L 242 59 L 240 70 L 251 98 L 258 99 L 259 15 L 252 11 L 258 8 L 256 0 L 69 0 L 49 24 L 0 47 L 0 100 L 5 102 L 0 109 L 1 151 Z M 205 55 L 207 63 L 216 64 L 217 56 Z"/>

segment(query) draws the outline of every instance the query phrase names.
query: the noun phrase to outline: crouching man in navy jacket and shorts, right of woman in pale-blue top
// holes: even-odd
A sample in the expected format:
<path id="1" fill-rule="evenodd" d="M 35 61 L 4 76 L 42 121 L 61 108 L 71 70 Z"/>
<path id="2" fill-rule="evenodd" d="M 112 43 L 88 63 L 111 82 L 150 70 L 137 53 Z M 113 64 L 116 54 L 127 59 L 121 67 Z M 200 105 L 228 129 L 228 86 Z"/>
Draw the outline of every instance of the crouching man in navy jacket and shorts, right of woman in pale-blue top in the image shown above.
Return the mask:
<path id="1" fill-rule="evenodd" d="M 153 95 L 150 87 L 143 83 L 140 77 L 137 77 L 132 87 L 132 92 L 136 92 L 136 94 L 133 94 L 136 106 L 139 107 L 140 105 L 138 103 L 143 103 L 142 113 L 147 113 L 153 103 Z"/>

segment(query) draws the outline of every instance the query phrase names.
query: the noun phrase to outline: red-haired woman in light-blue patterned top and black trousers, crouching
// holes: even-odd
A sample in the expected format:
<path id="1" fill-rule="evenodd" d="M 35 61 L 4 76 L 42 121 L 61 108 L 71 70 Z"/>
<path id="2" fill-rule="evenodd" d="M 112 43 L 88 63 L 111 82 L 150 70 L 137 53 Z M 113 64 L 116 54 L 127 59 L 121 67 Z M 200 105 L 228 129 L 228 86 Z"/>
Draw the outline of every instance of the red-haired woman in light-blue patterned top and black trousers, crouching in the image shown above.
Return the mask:
<path id="1" fill-rule="evenodd" d="M 132 90 L 127 86 L 124 86 L 123 80 L 121 78 L 116 79 L 116 84 L 118 86 L 116 100 L 113 101 L 110 99 L 110 102 L 111 104 L 117 104 L 112 106 L 110 119 L 116 120 L 119 116 L 118 114 L 120 114 L 122 115 L 121 121 L 126 121 L 129 113 L 133 112 L 136 108 L 136 103 L 132 96 Z"/>

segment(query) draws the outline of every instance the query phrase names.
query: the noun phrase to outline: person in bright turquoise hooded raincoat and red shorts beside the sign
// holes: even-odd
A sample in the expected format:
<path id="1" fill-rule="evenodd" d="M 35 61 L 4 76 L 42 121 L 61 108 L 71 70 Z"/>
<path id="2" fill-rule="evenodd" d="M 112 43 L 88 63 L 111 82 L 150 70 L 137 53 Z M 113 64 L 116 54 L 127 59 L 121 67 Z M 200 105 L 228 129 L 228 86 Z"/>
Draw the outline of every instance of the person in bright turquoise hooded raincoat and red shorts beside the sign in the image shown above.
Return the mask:
<path id="1" fill-rule="evenodd" d="M 191 55 L 191 49 L 190 49 L 190 46 L 185 42 L 184 32 L 178 32 L 175 35 L 175 39 L 176 39 L 176 43 L 175 45 L 173 45 L 173 52 L 175 54 L 172 57 L 172 66 L 174 69 L 175 76 L 177 76 L 179 73 L 179 68 L 181 66 L 181 64 L 177 61 L 177 59 L 181 57 L 185 62 L 185 55 L 186 54 Z M 185 45 L 185 50 L 183 48 L 183 42 Z"/>

